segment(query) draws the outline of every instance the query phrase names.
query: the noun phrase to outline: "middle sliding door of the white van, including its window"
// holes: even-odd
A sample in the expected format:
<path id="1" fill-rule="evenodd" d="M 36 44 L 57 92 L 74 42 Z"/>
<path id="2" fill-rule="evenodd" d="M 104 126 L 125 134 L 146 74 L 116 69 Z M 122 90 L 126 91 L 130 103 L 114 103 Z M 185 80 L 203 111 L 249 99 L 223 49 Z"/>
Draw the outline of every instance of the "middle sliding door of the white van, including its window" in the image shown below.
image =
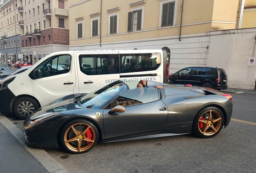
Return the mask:
<path id="1" fill-rule="evenodd" d="M 79 93 L 120 80 L 118 52 L 77 52 L 76 57 Z"/>

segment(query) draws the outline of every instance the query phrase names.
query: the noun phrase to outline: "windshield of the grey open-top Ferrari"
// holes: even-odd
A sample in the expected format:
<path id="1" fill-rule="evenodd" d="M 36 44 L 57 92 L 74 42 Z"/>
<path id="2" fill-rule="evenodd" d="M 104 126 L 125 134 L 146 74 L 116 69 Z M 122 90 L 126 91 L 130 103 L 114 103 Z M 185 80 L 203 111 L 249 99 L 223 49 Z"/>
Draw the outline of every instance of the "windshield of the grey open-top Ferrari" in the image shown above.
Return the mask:
<path id="1" fill-rule="evenodd" d="M 80 104 L 82 107 L 89 109 L 100 109 L 105 103 L 107 103 L 115 95 L 126 91 L 122 83 L 116 81 L 107 86 L 81 97 Z"/>

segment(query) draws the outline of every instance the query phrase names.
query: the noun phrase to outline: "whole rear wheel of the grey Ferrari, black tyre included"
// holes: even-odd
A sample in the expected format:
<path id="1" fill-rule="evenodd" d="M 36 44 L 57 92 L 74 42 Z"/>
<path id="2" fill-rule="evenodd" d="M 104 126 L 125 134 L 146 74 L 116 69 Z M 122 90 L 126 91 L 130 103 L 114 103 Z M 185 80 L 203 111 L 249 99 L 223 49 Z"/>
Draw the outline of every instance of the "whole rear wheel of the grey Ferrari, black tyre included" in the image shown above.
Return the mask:
<path id="1" fill-rule="evenodd" d="M 205 107 L 196 115 L 192 132 L 201 138 L 216 136 L 222 129 L 224 116 L 221 110 L 216 107 Z"/>

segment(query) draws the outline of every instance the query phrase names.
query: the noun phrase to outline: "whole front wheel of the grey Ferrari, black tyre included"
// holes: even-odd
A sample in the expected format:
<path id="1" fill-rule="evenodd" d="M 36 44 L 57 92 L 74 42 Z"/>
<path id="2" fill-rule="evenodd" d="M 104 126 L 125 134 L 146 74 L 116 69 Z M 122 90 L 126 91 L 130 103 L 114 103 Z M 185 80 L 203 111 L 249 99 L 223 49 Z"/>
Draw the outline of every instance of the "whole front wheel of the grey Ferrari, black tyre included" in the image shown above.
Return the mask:
<path id="1" fill-rule="evenodd" d="M 61 133 L 61 143 L 68 152 L 74 154 L 90 151 L 98 141 L 97 127 L 86 119 L 68 122 Z"/>

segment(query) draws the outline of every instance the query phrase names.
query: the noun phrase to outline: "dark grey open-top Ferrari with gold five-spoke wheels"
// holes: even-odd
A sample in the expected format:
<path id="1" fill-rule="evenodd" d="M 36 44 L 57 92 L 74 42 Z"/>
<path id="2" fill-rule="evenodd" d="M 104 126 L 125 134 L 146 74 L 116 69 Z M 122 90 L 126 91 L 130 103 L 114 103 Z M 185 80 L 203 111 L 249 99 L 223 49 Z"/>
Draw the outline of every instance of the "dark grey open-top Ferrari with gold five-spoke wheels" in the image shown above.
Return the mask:
<path id="1" fill-rule="evenodd" d="M 140 80 L 118 80 L 84 95 L 68 95 L 24 122 L 32 147 L 85 153 L 97 141 L 113 142 L 194 133 L 209 138 L 227 127 L 232 97 L 217 90 Z"/>

